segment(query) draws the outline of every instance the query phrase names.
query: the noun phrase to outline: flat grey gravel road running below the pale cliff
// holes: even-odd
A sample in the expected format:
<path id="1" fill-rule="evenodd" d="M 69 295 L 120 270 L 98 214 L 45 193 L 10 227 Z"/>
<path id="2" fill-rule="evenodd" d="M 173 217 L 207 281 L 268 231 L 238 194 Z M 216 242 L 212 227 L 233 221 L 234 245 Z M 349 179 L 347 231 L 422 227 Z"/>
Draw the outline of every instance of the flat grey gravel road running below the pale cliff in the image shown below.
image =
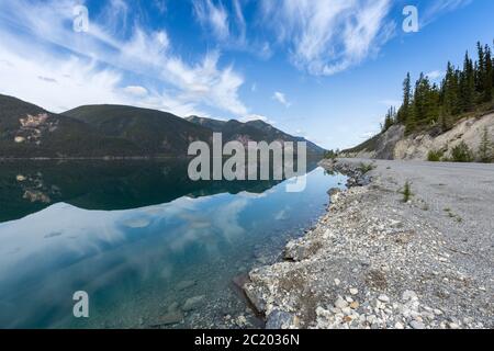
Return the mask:
<path id="1" fill-rule="evenodd" d="M 369 160 L 344 159 L 352 165 Z M 371 176 L 381 186 L 412 184 L 414 200 L 424 202 L 424 220 L 445 234 L 449 247 L 469 254 L 458 263 L 480 279 L 493 280 L 494 165 L 422 161 L 372 161 Z M 452 220 L 451 220 L 452 219 Z"/>

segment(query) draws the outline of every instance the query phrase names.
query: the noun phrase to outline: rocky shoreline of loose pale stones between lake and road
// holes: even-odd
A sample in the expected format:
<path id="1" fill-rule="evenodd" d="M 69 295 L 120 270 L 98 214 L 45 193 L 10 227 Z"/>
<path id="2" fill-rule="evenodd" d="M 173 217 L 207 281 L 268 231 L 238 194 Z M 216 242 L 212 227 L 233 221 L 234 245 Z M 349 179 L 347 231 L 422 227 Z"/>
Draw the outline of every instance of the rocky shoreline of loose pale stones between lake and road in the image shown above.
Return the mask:
<path id="1" fill-rule="evenodd" d="M 457 262 L 456 256 L 469 253 L 451 247 L 425 218 L 427 204 L 419 196 L 405 203 L 403 184 L 370 165 L 322 166 L 347 174 L 349 189 L 332 191 L 315 228 L 288 244 L 283 262 L 251 271 L 244 285 L 267 328 L 494 326 L 492 279 Z"/>

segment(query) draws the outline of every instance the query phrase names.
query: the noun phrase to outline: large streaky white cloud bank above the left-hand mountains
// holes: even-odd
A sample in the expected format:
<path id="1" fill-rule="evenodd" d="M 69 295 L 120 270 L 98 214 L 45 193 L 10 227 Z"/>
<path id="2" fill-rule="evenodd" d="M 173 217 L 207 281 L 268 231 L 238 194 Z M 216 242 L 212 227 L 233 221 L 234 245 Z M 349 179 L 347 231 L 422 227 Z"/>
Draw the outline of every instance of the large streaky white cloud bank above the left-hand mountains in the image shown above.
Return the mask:
<path id="1" fill-rule="evenodd" d="M 238 95 L 244 78 L 232 66 L 220 68 L 218 53 L 206 53 L 194 64 L 186 63 L 173 54 L 166 31 L 150 32 L 138 24 L 133 24 L 133 34 L 128 39 L 119 39 L 103 26 L 104 23 L 100 25 L 98 22 L 90 23 L 89 33 L 76 33 L 70 25 L 71 10 L 76 3 L 78 3 L 76 0 L 34 4 L 25 0 L 0 3 L 2 34 L 0 60 L 15 63 L 14 57 L 18 57 L 25 66 L 32 68 L 32 75 L 23 73 L 22 81 L 2 79 L 0 89 L 3 92 L 11 94 L 16 92 L 20 98 L 26 98 L 25 95 L 35 98 L 35 91 L 27 93 L 30 89 L 23 88 L 36 86 L 38 83 L 36 81 L 41 81 L 37 77 L 53 77 L 59 81 L 57 70 L 53 68 L 65 66 L 67 75 L 78 77 L 77 70 L 80 70 L 87 76 L 81 81 L 74 82 L 77 89 L 65 91 L 59 95 L 59 98 L 70 93 L 76 95 L 77 91 L 77 99 L 58 102 L 64 106 L 74 107 L 76 101 L 78 104 L 96 103 L 103 97 L 109 103 L 115 100 L 127 101 L 128 91 L 124 90 L 127 86 L 122 82 L 130 72 L 143 81 L 154 81 L 153 86 L 138 82 L 138 86 L 143 86 L 149 92 L 147 101 L 142 99 L 135 101 L 138 105 L 151 104 L 159 106 L 160 110 L 170 107 L 173 110 L 168 111 L 179 115 L 199 114 L 205 106 L 236 115 L 248 114 Z M 113 1 L 111 5 L 115 3 L 120 1 Z M 121 7 L 119 9 L 124 11 Z M 12 23 L 14 26 L 9 26 Z M 23 31 L 19 31 L 19 27 Z M 27 34 L 21 34 L 23 32 Z M 67 52 L 72 54 L 67 55 Z M 137 84 L 133 82 L 133 86 Z M 98 88 L 101 89 L 101 94 L 93 93 Z M 57 93 L 56 88 L 45 87 L 45 90 L 38 91 L 37 94 L 38 98 L 49 95 L 52 98 L 48 100 L 53 100 Z"/>

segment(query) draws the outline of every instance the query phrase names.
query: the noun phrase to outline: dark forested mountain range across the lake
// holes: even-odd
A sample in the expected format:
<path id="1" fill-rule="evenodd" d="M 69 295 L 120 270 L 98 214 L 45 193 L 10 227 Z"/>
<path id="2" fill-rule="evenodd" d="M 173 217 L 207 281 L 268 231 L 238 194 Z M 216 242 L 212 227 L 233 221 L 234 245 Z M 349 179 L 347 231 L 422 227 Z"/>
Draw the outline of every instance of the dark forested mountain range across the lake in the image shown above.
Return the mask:
<path id="1" fill-rule="evenodd" d="M 240 123 L 124 105 L 85 105 L 60 114 L 0 94 L 0 158 L 186 157 L 190 143 L 307 141 L 262 121 Z"/>

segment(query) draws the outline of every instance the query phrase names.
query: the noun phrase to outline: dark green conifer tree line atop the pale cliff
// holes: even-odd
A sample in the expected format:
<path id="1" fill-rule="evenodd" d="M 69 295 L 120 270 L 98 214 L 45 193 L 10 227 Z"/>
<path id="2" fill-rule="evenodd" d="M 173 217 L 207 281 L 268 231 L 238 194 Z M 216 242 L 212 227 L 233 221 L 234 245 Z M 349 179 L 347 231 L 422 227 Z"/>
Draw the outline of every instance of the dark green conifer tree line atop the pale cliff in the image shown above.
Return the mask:
<path id="1" fill-rule="evenodd" d="M 440 128 L 447 132 L 464 114 L 493 107 L 494 63 L 490 45 L 476 45 L 476 58 L 465 53 L 462 67 L 448 63 L 446 76 L 437 84 L 424 73 L 412 86 L 411 73 L 403 82 L 403 102 L 391 107 L 382 125 L 383 132 L 395 124 L 406 127 L 406 134 Z"/>

